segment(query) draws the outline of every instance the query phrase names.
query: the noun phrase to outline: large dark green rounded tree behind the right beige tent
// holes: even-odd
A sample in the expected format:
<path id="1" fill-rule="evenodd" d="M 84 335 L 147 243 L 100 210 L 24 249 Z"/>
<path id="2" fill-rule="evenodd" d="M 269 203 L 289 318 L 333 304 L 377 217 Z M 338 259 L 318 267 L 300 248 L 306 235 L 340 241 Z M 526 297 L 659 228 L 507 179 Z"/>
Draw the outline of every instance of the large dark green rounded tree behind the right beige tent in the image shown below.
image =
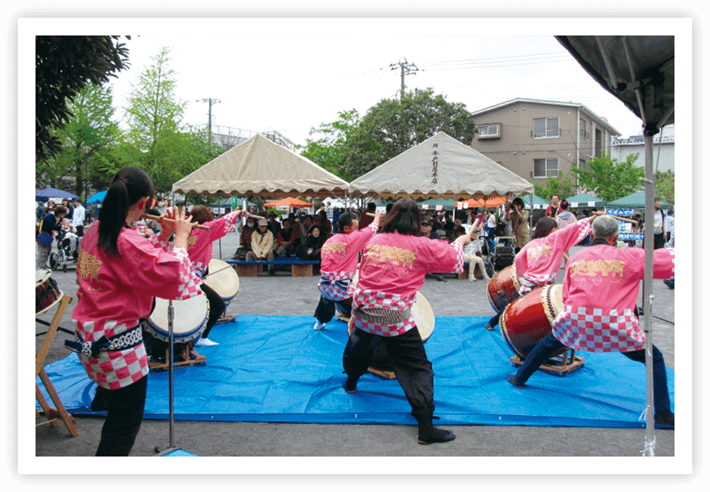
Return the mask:
<path id="1" fill-rule="evenodd" d="M 406 92 L 401 100 L 383 99 L 367 110 L 351 132 L 344 165 L 347 176 L 362 176 L 440 131 L 469 144 L 476 131 L 473 114 L 462 103 L 434 95 L 431 88 Z"/>

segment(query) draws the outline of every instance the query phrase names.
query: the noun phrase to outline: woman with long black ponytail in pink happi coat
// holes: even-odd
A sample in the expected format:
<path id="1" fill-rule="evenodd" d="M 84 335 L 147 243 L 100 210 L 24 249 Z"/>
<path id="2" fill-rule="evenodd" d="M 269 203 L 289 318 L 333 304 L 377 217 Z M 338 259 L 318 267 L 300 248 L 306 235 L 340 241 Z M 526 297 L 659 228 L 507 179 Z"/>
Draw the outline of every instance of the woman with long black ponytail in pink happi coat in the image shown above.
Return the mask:
<path id="1" fill-rule="evenodd" d="M 67 340 L 99 386 L 91 410 L 107 410 L 97 456 L 128 456 L 143 421 L 148 358 L 139 319 L 154 296 L 185 300 L 201 295 L 187 254 L 193 223 L 185 208 L 163 218 L 162 231 L 144 238 L 130 223 L 151 202 L 153 184 L 140 168 L 122 168 L 106 192 L 99 221 L 82 240 L 76 268 L 78 302 L 72 313 L 77 341 Z M 175 243 L 168 251 L 168 239 Z"/>

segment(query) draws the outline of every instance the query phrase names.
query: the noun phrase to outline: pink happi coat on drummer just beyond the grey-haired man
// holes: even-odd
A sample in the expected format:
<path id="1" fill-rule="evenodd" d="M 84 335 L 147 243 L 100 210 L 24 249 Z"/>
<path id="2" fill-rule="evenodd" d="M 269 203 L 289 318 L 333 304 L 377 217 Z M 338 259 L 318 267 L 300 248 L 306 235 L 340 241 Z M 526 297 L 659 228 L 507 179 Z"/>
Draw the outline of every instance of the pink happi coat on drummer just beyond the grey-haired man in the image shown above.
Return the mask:
<path id="1" fill-rule="evenodd" d="M 560 271 L 564 252 L 586 238 L 592 230 L 591 217 L 556 230 L 545 238 L 526 244 L 516 254 L 516 275 L 520 278 L 523 295 L 535 287 L 554 284 Z"/>

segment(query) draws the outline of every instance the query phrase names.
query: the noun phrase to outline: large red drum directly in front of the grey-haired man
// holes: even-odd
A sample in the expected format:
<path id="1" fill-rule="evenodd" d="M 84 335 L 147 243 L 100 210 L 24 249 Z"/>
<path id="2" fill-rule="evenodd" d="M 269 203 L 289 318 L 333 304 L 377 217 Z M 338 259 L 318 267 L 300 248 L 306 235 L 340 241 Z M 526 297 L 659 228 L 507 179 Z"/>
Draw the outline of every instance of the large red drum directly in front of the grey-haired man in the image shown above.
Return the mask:
<path id="1" fill-rule="evenodd" d="M 562 285 L 538 287 L 512 301 L 501 315 L 501 333 L 509 348 L 521 358 L 552 332 L 552 322 L 564 308 Z M 566 348 L 554 355 L 563 353 Z M 553 355 L 553 356 L 554 356 Z"/>

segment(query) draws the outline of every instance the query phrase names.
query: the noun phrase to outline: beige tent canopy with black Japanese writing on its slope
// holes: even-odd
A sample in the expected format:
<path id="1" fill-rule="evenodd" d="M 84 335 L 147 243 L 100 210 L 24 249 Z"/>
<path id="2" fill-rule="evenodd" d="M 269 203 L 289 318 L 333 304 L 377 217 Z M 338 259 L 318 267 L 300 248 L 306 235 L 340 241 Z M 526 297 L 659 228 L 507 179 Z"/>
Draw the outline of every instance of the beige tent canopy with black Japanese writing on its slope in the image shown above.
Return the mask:
<path id="1" fill-rule="evenodd" d="M 512 198 L 532 192 L 533 184 L 444 132 L 350 184 L 351 196 L 392 199 Z"/>

